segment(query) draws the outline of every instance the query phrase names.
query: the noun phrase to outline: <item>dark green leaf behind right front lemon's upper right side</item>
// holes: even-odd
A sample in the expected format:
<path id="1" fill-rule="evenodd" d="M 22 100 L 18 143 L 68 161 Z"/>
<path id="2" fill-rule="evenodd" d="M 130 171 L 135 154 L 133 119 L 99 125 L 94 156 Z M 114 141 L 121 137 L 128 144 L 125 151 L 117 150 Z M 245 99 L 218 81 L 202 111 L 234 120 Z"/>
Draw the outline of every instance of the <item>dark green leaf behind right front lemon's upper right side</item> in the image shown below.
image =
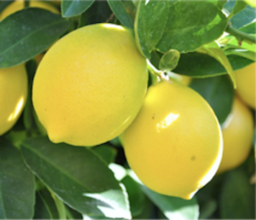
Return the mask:
<path id="1" fill-rule="evenodd" d="M 207 100 L 223 124 L 230 114 L 234 99 L 234 89 L 227 75 L 212 78 L 195 78 L 189 85 Z"/>

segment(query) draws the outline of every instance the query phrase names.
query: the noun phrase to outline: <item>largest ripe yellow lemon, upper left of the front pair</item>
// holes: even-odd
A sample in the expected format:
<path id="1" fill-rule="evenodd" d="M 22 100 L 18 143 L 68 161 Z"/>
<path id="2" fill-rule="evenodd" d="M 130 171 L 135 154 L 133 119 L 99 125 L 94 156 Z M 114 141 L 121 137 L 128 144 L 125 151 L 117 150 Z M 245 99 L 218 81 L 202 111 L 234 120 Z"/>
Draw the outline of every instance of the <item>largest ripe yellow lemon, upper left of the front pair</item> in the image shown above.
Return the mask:
<path id="1" fill-rule="evenodd" d="M 93 146 L 119 136 L 147 90 L 147 62 L 133 33 L 110 24 L 70 32 L 44 55 L 32 100 L 52 142 Z"/>

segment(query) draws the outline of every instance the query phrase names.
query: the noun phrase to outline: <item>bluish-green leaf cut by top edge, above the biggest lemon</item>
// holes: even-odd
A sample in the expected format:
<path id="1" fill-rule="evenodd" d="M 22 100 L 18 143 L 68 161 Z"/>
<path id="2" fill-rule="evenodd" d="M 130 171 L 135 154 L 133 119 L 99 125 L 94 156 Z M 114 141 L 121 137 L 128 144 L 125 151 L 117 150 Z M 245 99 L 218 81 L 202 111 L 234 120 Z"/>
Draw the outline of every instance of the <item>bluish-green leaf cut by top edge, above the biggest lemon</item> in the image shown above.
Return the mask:
<path id="1" fill-rule="evenodd" d="M 61 1 L 61 14 L 63 17 L 73 17 L 82 14 L 90 8 L 94 0 L 62 0 Z"/>

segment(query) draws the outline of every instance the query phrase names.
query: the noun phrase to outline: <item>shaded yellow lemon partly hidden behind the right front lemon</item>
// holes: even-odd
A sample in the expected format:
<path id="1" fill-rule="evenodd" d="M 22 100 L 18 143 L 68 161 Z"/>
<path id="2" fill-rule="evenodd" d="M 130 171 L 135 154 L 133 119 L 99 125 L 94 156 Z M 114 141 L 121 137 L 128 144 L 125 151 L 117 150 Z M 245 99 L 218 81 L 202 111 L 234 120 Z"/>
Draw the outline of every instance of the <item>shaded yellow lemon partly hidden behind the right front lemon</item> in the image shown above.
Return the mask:
<path id="1" fill-rule="evenodd" d="M 230 171 L 247 159 L 253 143 L 253 114 L 238 98 L 222 130 L 224 151 L 218 173 Z"/>

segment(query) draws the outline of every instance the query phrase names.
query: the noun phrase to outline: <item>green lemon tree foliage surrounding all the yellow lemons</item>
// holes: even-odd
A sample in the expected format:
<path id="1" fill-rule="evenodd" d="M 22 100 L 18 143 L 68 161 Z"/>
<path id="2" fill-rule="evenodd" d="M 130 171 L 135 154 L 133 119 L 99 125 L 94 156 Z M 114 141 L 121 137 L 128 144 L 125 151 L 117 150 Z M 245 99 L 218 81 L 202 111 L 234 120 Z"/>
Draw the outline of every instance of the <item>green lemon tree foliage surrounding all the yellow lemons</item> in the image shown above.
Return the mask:
<path id="1" fill-rule="evenodd" d="M 0 13 L 11 2 L 0 1 Z M 139 182 L 118 139 L 94 148 L 49 142 L 31 101 L 34 57 L 81 26 L 110 22 L 134 30 L 137 48 L 151 62 L 148 84 L 171 71 L 193 78 L 190 87 L 223 124 L 236 94 L 234 71 L 256 61 L 256 1 L 62 0 L 55 7 L 60 14 L 27 8 L 0 21 L 0 68 L 26 62 L 30 79 L 23 114 L 0 136 L 0 219 L 256 219 L 253 152 L 182 200 Z"/>

